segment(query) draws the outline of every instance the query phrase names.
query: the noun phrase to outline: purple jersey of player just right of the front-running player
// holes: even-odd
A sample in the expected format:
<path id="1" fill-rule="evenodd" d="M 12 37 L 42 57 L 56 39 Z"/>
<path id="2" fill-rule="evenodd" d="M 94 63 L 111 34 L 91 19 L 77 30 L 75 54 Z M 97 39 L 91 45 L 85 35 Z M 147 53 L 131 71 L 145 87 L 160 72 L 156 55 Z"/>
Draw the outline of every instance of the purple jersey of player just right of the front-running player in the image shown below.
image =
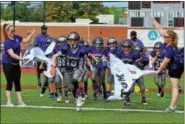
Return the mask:
<path id="1" fill-rule="evenodd" d="M 94 46 L 90 46 L 89 49 L 88 49 L 89 53 L 93 54 L 97 60 L 99 61 L 98 63 L 96 63 L 94 60 L 92 60 L 92 65 L 93 67 L 96 67 L 97 69 L 103 69 L 103 66 L 102 66 L 102 62 L 101 62 L 101 58 L 103 56 L 106 56 L 107 52 L 106 52 L 106 48 L 102 48 L 100 50 L 97 50 L 96 47 Z"/>

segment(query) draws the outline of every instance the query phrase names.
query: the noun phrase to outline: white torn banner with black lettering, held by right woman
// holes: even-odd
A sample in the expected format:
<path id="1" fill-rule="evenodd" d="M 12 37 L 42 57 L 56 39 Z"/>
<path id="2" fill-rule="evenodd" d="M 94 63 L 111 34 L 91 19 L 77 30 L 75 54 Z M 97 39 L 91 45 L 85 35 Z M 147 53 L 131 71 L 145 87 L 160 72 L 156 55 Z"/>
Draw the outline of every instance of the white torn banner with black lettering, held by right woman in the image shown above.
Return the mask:
<path id="1" fill-rule="evenodd" d="M 110 69 L 114 75 L 114 95 L 108 100 L 121 100 L 136 79 L 146 74 L 155 74 L 153 70 L 140 70 L 134 65 L 124 64 L 120 59 L 110 54 Z"/>

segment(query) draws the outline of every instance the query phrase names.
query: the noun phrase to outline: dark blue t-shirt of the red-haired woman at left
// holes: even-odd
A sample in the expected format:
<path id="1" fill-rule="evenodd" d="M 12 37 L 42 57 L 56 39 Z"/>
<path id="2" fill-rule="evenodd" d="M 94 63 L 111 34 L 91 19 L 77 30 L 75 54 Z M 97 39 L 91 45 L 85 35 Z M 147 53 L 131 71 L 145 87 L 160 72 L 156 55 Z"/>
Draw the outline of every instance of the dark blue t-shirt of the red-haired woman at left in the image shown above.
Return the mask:
<path id="1" fill-rule="evenodd" d="M 20 56 L 21 52 L 21 41 L 22 37 L 19 35 L 14 35 L 14 40 L 11 40 L 9 38 L 6 38 L 4 41 L 4 53 L 3 53 L 3 63 L 10 63 L 10 64 L 19 64 L 19 60 L 12 58 L 8 54 L 8 50 L 12 49 L 13 52 Z"/>

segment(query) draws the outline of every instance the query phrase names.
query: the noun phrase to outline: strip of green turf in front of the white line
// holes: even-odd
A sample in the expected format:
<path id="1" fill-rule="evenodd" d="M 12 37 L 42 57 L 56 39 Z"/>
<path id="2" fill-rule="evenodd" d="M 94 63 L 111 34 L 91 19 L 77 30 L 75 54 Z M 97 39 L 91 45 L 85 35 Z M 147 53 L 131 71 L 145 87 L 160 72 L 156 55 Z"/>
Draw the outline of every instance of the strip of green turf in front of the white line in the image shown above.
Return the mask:
<path id="1" fill-rule="evenodd" d="M 139 112 L 101 112 L 74 110 L 44 110 L 25 108 L 3 108 L 1 121 L 9 123 L 171 123 L 183 124 L 183 114 L 139 113 Z M 16 114 L 17 113 L 17 114 Z M 16 117 L 15 117 L 16 115 Z M 14 117 L 14 118 L 13 118 Z"/>

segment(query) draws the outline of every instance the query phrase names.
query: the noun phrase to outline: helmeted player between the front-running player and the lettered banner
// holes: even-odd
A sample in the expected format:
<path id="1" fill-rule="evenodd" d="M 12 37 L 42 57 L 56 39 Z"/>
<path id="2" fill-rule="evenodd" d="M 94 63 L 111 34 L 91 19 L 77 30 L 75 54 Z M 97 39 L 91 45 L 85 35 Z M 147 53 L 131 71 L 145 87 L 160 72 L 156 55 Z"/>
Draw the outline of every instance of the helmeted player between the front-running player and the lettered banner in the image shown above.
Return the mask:
<path id="1" fill-rule="evenodd" d="M 89 53 L 95 56 L 95 60 L 92 59 L 92 85 L 93 85 L 93 100 L 97 100 L 97 93 L 102 86 L 103 99 L 107 100 L 107 91 L 105 83 L 105 66 L 106 66 L 106 48 L 103 45 L 102 37 L 95 37 L 93 39 L 93 45 L 89 47 Z M 105 64 L 103 65 L 103 62 Z"/>

